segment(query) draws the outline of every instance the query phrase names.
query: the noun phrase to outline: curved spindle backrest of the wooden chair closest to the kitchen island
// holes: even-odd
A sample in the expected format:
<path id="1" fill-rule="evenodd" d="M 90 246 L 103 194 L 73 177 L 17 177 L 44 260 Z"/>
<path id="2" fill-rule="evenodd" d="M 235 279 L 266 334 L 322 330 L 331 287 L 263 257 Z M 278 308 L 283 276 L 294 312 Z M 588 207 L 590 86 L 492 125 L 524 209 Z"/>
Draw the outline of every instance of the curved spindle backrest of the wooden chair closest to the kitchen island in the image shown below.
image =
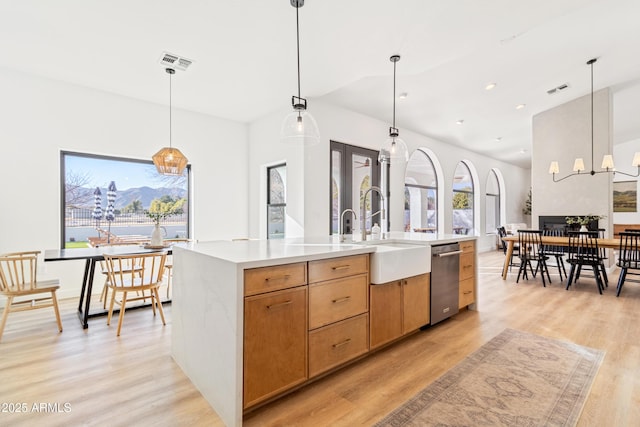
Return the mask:
<path id="1" fill-rule="evenodd" d="M 162 281 L 166 252 L 132 255 L 104 254 L 109 281 L 114 286 L 146 286 Z M 136 266 L 137 268 L 131 268 Z"/>

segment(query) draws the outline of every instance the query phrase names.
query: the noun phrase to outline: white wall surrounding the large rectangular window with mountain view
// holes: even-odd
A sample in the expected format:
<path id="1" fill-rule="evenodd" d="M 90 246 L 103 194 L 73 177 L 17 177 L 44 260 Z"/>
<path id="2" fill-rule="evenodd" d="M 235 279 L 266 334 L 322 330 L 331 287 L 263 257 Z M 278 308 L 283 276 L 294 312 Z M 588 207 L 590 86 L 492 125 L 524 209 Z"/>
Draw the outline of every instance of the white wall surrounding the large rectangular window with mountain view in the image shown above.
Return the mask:
<path id="1" fill-rule="evenodd" d="M 166 105 L 7 69 L 0 93 L 0 253 L 60 247 L 60 150 L 150 159 L 168 145 Z M 174 108 L 173 145 L 192 165 L 192 237 L 246 234 L 247 125 Z M 40 264 L 79 295 L 82 261 Z"/>

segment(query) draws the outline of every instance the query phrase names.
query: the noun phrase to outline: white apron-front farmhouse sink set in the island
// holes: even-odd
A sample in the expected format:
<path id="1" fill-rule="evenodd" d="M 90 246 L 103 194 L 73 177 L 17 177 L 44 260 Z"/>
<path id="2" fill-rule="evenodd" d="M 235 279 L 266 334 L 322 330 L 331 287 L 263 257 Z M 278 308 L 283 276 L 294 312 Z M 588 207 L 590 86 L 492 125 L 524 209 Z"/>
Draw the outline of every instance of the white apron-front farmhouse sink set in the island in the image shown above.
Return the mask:
<path id="1" fill-rule="evenodd" d="M 381 284 L 431 271 L 431 247 L 407 243 L 374 244 L 371 283 Z"/>

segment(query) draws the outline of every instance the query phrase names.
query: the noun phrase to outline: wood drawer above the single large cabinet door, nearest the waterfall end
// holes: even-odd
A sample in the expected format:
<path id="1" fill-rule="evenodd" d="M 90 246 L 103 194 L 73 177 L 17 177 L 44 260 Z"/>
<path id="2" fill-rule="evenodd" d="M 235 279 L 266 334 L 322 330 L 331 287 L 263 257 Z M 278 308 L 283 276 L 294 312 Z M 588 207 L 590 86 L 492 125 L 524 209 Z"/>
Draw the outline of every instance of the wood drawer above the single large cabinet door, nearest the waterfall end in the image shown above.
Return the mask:
<path id="1" fill-rule="evenodd" d="M 307 264 L 274 265 L 244 271 L 244 295 L 256 295 L 307 283 Z"/>

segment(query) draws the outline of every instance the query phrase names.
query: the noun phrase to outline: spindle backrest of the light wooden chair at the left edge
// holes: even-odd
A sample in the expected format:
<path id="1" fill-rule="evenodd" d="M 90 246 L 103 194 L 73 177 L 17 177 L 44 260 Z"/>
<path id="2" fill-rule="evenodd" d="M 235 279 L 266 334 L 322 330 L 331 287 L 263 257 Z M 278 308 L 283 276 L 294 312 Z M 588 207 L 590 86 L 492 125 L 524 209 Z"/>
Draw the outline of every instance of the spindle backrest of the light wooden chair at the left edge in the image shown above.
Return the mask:
<path id="1" fill-rule="evenodd" d="M 0 256 L 0 291 L 19 292 L 36 284 L 40 251 L 12 252 Z"/>

